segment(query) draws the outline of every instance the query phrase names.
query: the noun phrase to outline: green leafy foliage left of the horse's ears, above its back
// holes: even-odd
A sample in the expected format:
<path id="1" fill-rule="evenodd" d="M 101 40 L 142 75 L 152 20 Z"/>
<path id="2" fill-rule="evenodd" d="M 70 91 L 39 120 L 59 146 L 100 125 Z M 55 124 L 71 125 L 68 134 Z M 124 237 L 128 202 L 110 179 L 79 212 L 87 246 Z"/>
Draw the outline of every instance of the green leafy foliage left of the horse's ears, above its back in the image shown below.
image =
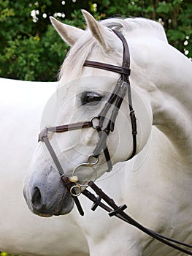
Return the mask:
<path id="1" fill-rule="evenodd" d="M 55 79 L 68 47 L 50 25 L 49 16 L 62 18 L 65 10 L 64 1 L 0 0 L 1 77 Z M 69 19 L 74 26 L 84 25 L 80 11 L 70 12 Z"/>

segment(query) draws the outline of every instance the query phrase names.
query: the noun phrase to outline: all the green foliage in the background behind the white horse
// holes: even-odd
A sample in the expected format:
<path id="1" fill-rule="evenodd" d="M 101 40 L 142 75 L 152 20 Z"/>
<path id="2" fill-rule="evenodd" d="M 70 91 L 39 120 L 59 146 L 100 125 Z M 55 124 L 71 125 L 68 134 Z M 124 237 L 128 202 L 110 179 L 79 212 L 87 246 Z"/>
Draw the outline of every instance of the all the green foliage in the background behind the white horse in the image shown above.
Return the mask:
<path id="1" fill-rule="evenodd" d="M 55 80 L 69 47 L 58 37 L 48 16 L 85 29 L 80 9 L 97 18 L 139 16 L 159 20 L 169 42 L 192 57 L 190 0 L 0 0 L 0 77 Z M 33 16 L 32 16 L 33 15 Z"/>

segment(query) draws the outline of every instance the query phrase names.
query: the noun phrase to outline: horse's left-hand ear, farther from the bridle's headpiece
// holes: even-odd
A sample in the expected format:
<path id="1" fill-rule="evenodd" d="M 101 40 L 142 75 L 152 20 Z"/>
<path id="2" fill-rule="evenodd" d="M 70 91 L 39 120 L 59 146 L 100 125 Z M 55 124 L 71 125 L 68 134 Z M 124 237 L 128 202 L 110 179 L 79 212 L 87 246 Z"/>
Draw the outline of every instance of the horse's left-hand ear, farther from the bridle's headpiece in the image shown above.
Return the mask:
<path id="1" fill-rule="evenodd" d="M 66 25 L 53 17 L 50 17 L 50 20 L 64 42 L 70 46 L 74 45 L 74 43 L 77 42 L 77 40 L 85 33 L 82 29 Z"/>

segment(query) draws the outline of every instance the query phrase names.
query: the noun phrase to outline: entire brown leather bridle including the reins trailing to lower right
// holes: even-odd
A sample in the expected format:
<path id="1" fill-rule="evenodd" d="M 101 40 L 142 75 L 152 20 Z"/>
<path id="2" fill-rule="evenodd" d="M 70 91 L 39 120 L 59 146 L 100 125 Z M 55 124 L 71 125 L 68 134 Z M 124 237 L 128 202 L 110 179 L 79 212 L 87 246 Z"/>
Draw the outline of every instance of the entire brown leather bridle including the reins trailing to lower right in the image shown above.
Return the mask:
<path id="1" fill-rule="evenodd" d="M 120 106 L 123 102 L 124 97 L 126 94 L 128 94 L 128 105 L 129 105 L 129 115 L 131 118 L 131 129 L 132 129 L 132 138 L 133 138 L 133 148 L 132 148 L 132 154 L 128 159 L 131 159 L 134 157 L 134 155 L 137 152 L 137 119 L 134 114 L 134 108 L 132 105 L 131 100 L 131 86 L 129 82 L 129 75 L 130 75 L 130 54 L 128 50 L 128 45 L 126 42 L 125 37 L 123 37 L 123 34 L 121 34 L 118 31 L 113 31 L 117 37 L 121 40 L 123 43 L 123 64 L 122 67 L 118 67 L 111 64 L 105 64 L 101 62 L 96 61 L 85 61 L 84 66 L 85 67 L 93 67 L 97 69 L 105 69 L 112 72 L 117 72 L 120 74 L 120 79 L 118 80 L 118 83 L 115 86 L 115 89 L 110 94 L 110 98 L 104 105 L 104 108 L 101 110 L 101 113 L 99 113 L 98 116 L 93 116 L 90 121 L 82 121 L 77 122 L 74 124 L 65 124 L 57 127 L 45 127 L 45 129 L 42 130 L 39 134 L 39 141 L 42 141 L 47 146 L 47 150 L 50 152 L 50 155 L 53 159 L 53 162 L 55 163 L 55 166 L 58 169 L 58 172 L 61 175 L 62 180 L 64 181 L 64 184 L 66 188 L 69 190 L 70 194 L 72 195 L 74 199 L 74 203 L 76 203 L 77 208 L 81 215 L 84 215 L 84 212 L 82 210 L 82 207 L 80 205 L 80 202 L 77 198 L 78 195 L 82 194 L 88 197 L 90 200 L 93 201 L 93 207 L 91 208 L 93 211 L 96 210 L 98 206 L 101 208 L 104 208 L 105 211 L 109 212 L 110 217 L 115 216 L 123 221 L 127 222 L 130 225 L 134 225 L 134 227 L 139 228 L 139 230 L 142 230 L 142 232 L 146 233 L 147 235 L 157 239 L 158 241 L 161 241 L 162 243 L 171 246 L 174 249 L 179 250 L 180 252 L 184 252 L 188 255 L 192 255 L 192 252 L 183 249 L 180 246 L 177 246 L 176 244 L 180 244 L 182 246 L 188 246 L 189 248 L 192 248 L 191 245 L 185 244 L 183 242 L 174 240 L 172 238 L 168 238 L 166 236 L 162 236 L 159 233 L 155 233 L 153 230 L 149 230 L 148 228 L 142 226 L 139 224 L 139 222 L 136 222 L 134 219 L 132 219 L 128 214 L 124 212 L 124 210 L 127 208 L 126 205 L 123 206 L 117 206 L 108 195 L 106 195 L 99 187 L 94 184 L 93 180 L 96 179 L 93 178 L 93 180 L 88 181 L 88 183 L 85 184 L 85 182 L 80 183 L 78 181 L 78 168 L 86 168 L 86 167 L 92 167 L 93 165 L 96 165 L 99 162 L 99 155 L 101 154 L 101 151 L 103 150 L 104 156 L 107 162 L 108 170 L 112 170 L 112 163 L 111 163 L 111 157 L 110 152 L 107 148 L 107 137 L 110 134 L 110 132 L 113 132 L 115 129 L 115 120 L 118 116 L 118 111 L 120 109 Z M 107 121 L 106 127 L 104 126 L 104 121 L 106 121 L 106 116 L 109 110 L 112 108 L 111 116 L 109 121 Z M 95 119 L 98 121 L 98 124 L 95 123 Z M 90 154 L 88 156 L 88 162 L 82 163 L 80 165 L 77 165 L 77 167 L 74 168 L 72 177 L 67 177 L 64 173 L 63 167 L 61 166 L 61 163 L 58 160 L 58 157 L 55 154 L 55 151 L 53 150 L 53 147 L 50 144 L 49 141 L 49 134 L 52 132 L 68 132 L 75 129 L 86 129 L 92 127 L 93 129 L 96 129 L 96 131 L 99 134 L 99 142 L 96 144 L 96 148 L 93 151 L 93 154 Z M 127 160 L 128 160 L 127 159 Z M 93 168 L 94 170 L 94 168 Z M 77 175 L 76 175 L 77 173 Z M 91 192 L 89 192 L 86 187 L 91 187 L 98 197 L 93 195 Z M 109 206 L 106 206 L 104 203 L 101 202 L 101 200 L 104 200 Z"/>

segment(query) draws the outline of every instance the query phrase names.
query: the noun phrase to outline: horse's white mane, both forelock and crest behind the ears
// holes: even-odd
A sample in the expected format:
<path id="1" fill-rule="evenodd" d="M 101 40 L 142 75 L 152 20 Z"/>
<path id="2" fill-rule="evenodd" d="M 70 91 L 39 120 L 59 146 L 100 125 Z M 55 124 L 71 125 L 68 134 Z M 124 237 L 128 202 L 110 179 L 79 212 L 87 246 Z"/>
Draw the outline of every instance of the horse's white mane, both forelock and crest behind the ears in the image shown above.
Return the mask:
<path id="1" fill-rule="evenodd" d="M 110 18 L 107 20 L 101 20 L 102 25 L 107 26 L 110 29 L 120 31 L 124 36 L 137 37 L 138 33 L 141 37 L 155 37 L 167 42 L 166 34 L 161 23 L 146 18 Z M 67 58 L 61 67 L 59 73 L 59 80 L 64 74 L 71 74 L 75 77 L 80 75 L 82 66 L 85 59 L 93 50 L 93 47 L 98 47 L 99 44 L 96 39 L 91 35 L 89 30 L 80 38 L 69 50 Z"/>

